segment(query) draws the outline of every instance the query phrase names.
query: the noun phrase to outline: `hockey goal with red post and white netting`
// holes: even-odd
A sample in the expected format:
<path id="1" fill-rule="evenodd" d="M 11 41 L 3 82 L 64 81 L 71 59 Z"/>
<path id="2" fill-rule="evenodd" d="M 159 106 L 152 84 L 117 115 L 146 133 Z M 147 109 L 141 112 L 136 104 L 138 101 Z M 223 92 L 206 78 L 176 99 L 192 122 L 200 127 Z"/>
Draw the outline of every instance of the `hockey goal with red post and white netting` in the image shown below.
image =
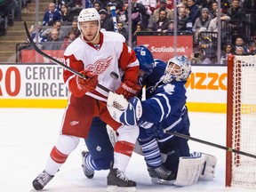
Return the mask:
<path id="1" fill-rule="evenodd" d="M 256 155 L 256 55 L 228 56 L 227 147 Z M 256 159 L 227 151 L 226 186 L 256 188 Z"/>

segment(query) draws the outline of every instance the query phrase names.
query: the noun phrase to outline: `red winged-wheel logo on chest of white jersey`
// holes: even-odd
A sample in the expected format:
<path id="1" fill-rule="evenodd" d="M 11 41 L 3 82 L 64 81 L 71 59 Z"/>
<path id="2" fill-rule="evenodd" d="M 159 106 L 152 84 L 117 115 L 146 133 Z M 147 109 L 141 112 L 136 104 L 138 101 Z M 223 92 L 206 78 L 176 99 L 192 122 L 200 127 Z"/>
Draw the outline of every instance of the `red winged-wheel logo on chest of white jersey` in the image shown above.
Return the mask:
<path id="1" fill-rule="evenodd" d="M 97 75 L 100 75 L 107 70 L 112 60 L 113 56 L 111 55 L 107 59 L 97 60 L 94 64 L 88 65 L 86 69 L 92 71 Z"/>

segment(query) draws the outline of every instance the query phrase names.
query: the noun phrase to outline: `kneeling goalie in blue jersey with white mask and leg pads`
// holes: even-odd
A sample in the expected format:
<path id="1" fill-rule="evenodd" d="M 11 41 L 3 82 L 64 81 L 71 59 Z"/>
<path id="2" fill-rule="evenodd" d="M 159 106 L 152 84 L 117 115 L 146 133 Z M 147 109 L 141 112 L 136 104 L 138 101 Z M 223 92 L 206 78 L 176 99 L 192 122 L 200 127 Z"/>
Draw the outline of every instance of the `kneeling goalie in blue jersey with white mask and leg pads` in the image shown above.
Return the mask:
<path id="1" fill-rule="evenodd" d="M 164 71 L 164 76 L 156 84 L 150 83 L 150 80 L 157 79 L 154 70 Z M 127 102 L 123 96 L 110 93 L 110 115 L 122 124 L 140 126 L 140 147 L 153 181 L 188 186 L 199 178 L 212 180 L 217 162 L 215 156 L 202 153 L 190 156 L 188 140 L 164 133 L 164 130 L 172 130 L 189 135 L 185 87 L 191 73 L 188 58 L 175 56 L 167 66 L 158 60 L 154 70 L 146 79 L 149 82 L 144 82 L 149 86 L 147 100 L 140 101 L 133 97 Z"/>

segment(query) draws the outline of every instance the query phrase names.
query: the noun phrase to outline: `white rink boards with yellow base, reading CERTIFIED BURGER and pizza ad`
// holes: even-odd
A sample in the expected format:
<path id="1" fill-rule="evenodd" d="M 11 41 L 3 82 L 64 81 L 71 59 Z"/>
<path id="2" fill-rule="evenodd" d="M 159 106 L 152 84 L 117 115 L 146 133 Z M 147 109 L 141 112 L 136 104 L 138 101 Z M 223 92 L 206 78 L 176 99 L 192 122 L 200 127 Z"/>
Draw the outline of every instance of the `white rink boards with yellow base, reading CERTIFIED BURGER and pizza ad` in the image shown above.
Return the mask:
<path id="1" fill-rule="evenodd" d="M 0 108 L 65 108 L 68 89 L 55 64 L 0 64 Z M 227 66 L 192 66 L 188 109 L 226 113 Z"/>

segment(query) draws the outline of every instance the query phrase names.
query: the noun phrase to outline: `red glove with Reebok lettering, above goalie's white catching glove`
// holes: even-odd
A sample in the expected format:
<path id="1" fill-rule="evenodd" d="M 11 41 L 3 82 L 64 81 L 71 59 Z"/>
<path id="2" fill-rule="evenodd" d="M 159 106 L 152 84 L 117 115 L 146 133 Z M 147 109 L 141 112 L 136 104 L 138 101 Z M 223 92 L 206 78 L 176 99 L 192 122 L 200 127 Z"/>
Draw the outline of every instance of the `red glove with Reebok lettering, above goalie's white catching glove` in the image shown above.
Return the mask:
<path id="1" fill-rule="evenodd" d="M 126 80 L 116 90 L 116 93 L 124 95 L 124 98 L 129 100 L 130 98 L 134 97 L 138 92 L 140 92 L 141 88 L 142 87 L 139 84 L 136 84 L 131 80 Z"/>

